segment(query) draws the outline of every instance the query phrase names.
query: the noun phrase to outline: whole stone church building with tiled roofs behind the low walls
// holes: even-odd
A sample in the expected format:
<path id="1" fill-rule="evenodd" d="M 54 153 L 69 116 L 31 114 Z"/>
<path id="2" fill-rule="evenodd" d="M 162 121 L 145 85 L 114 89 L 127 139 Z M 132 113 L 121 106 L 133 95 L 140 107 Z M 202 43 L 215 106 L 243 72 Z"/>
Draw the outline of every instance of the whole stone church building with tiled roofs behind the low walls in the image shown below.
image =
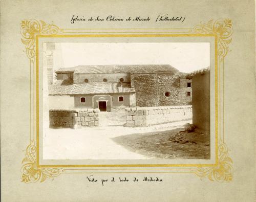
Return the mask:
<path id="1" fill-rule="evenodd" d="M 191 104 L 192 82 L 169 64 L 78 65 L 60 68 L 49 85 L 49 108 Z"/>

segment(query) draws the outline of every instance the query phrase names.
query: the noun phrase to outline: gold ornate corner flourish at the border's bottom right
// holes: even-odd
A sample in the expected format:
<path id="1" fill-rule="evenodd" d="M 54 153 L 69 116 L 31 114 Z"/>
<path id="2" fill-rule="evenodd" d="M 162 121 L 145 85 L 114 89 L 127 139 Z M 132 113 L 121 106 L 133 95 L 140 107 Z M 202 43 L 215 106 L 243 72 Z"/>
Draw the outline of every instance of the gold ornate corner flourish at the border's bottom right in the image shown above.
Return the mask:
<path id="1" fill-rule="evenodd" d="M 210 181 L 230 182 L 233 179 L 232 160 L 228 156 L 227 145 L 221 143 L 219 145 L 219 162 L 217 167 L 203 168 L 197 167 L 195 169 L 196 175 L 200 177 L 208 177 Z"/>

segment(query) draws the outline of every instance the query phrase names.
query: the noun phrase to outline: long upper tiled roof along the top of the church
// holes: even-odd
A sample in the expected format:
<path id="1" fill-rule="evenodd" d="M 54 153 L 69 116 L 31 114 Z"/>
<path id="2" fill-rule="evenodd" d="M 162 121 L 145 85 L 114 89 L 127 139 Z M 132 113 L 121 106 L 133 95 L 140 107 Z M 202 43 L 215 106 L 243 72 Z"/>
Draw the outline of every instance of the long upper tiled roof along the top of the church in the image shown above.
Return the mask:
<path id="1" fill-rule="evenodd" d="M 67 70 L 69 69 L 69 70 Z M 111 73 L 131 73 L 146 74 L 166 71 L 178 71 L 169 64 L 110 64 L 110 65 L 78 65 L 74 68 L 60 68 L 56 73 L 74 71 L 74 74 L 111 74 Z"/>

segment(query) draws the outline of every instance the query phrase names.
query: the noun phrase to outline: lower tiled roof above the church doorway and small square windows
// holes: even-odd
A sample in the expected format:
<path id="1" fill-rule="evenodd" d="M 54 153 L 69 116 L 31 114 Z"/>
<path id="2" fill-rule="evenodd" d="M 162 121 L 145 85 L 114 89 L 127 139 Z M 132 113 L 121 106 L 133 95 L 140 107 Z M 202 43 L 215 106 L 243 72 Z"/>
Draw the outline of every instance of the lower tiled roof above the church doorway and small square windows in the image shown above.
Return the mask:
<path id="1" fill-rule="evenodd" d="M 72 80 L 57 80 L 49 86 L 49 95 L 84 95 L 135 93 L 131 83 L 74 83 Z"/>

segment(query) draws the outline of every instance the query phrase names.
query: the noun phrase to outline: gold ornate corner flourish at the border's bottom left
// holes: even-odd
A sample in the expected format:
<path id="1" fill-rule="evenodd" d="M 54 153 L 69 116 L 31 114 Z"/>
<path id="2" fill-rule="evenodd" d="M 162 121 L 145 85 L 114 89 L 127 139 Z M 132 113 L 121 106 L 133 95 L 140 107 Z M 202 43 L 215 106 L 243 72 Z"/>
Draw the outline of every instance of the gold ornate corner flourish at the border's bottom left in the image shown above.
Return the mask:
<path id="1" fill-rule="evenodd" d="M 53 179 L 53 177 L 65 171 L 62 168 L 37 168 L 36 147 L 33 141 L 27 147 L 25 156 L 20 170 L 22 172 L 22 182 L 24 183 L 44 182 L 47 178 Z"/>

